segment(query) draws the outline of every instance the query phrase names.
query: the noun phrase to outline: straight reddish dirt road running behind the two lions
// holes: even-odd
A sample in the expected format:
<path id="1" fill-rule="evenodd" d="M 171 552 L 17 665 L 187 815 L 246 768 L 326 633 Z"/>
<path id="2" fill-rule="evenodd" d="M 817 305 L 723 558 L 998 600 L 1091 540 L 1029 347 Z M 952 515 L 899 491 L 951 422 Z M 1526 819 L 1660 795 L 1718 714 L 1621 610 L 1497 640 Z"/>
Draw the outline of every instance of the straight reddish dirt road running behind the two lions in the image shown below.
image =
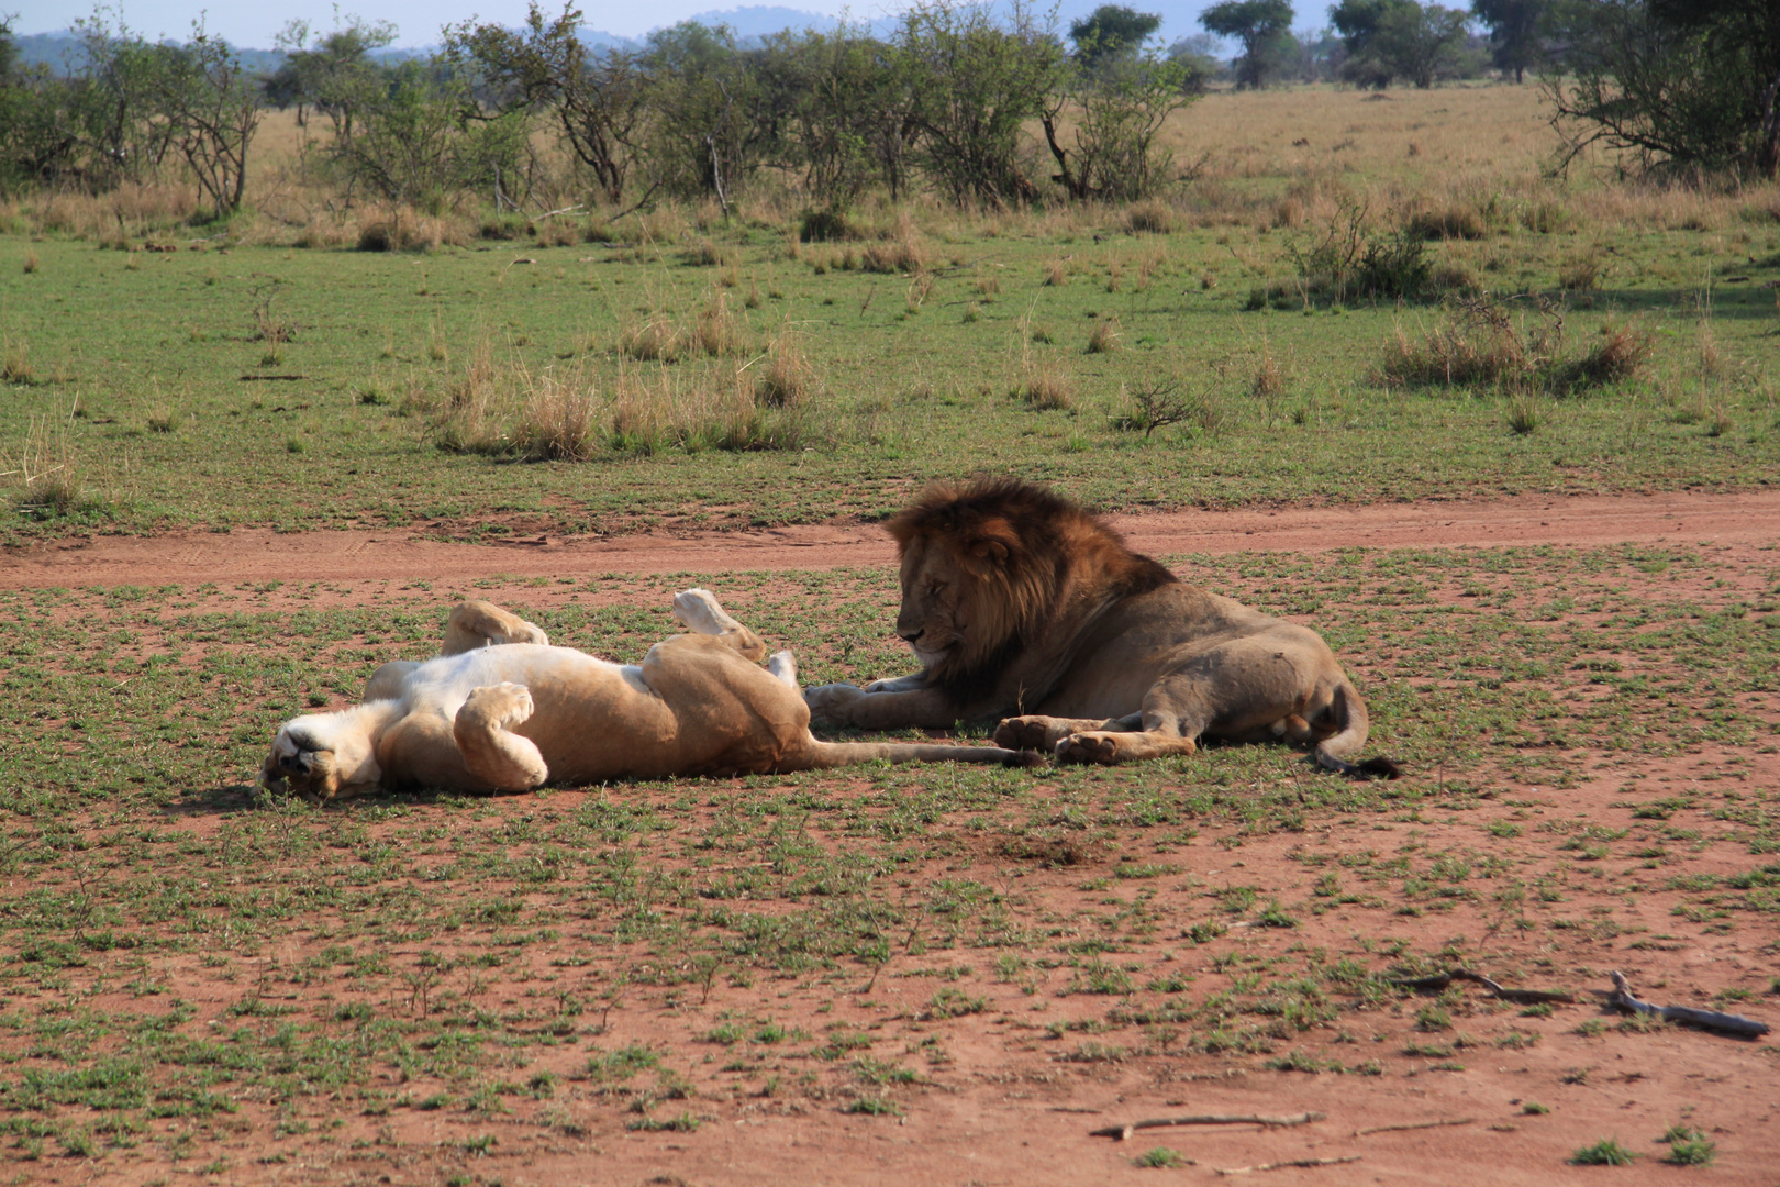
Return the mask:
<path id="1" fill-rule="evenodd" d="M 1518 497 L 1495 502 L 1371 504 L 1280 511 L 1178 511 L 1111 516 L 1146 553 L 1509 545 L 1780 543 L 1780 491 L 1739 495 Z M 596 573 L 721 573 L 890 564 L 874 525 L 748 532 L 532 537 L 456 545 L 411 530 L 239 529 L 167 536 L 91 536 L 0 553 L 0 587 L 158 585 L 206 580 L 454 580 Z"/>

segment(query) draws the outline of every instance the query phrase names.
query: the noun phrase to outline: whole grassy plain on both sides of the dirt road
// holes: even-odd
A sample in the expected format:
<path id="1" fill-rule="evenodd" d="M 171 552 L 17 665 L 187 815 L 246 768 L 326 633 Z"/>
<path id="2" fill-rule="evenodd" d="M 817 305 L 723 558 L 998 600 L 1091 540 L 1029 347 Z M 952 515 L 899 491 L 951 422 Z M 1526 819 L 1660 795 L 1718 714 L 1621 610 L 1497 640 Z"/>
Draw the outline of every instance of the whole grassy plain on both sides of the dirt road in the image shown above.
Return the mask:
<path id="1" fill-rule="evenodd" d="M 707 585 L 806 682 L 908 669 L 888 569 L 509 575 L 539 536 L 671 555 L 984 472 L 1139 518 L 1773 489 L 1780 190 L 1549 178 L 1531 85 L 1173 119 L 1166 201 L 869 201 L 828 242 L 771 185 L 329 208 L 290 123 L 226 226 L 178 187 L 0 208 L 0 1175 L 1773 1183 L 1771 1036 L 1595 991 L 1780 1018 L 1780 527 L 1164 557 L 1330 639 L 1388 783 L 1212 747 L 256 787 L 466 596 L 628 662 Z M 1347 287 L 1367 244 L 1413 299 Z M 242 529 L 488 566 L 4 577 Z M 1451 970 L 1570 1000 L 1404 984 Z M 1274 1125 L 1091 1135 L 1207 1114 Z"/>

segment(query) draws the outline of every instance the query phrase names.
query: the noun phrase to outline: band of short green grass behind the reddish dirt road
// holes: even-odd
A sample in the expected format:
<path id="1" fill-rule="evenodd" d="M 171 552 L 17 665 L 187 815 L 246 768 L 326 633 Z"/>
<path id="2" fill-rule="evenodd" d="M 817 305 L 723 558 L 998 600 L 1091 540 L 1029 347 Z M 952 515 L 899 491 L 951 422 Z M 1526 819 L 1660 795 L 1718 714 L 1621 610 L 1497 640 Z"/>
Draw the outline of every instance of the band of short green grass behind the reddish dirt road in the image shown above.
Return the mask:
<path id="1" fill-rule="evenodd" d="M 619 441 L 580 463 L 440 448 L 454 440 L 440 420 L 479 343 L 507 392 L 493 404 L 498 438 L 513 429 L 520 368 L 580 375 L 605 395 L 621 374 L 657 383 L 655 363 L 619 354 L 627 327 L 655 313 L 694 320 L 724 292 L 726 267 L 687 263 L 696 253 L 685 244 L 651 244 L 527 246 L 538 265 L 525 269 L 509 267 L 506 247 L 420 258 L 235 247 L 130 269 L 139 256 L 50 238 L 32 246 L 37 272 L 0 271 L 0 336 L 28 349 L 36 375 L 0 402 L 0 454 L 16 459 L 44 418 L 66 424 L 78 497 L 12 514 L 0 534 L 360 525 L 481 539 L 666 518 L 870 520 L 926 479 L 972 472 L 1022 473 L 1107 509 L 1155 509 L 1736 488 L 1780 470 L 1773 310 L 1741 288 L 1721 292 L 1711 365 L 1696 310 L 1707 272 L 1736 256 L 1753 292 L 1780 276 L 1780 254 L 1748 263 L 1719 235 L 1639 235 L 1623 253 L 1638 279 L 1568 310 L 1566 335 L 1582 349 L 1634 319 L 1655 336 L 1648 375 L 1541 400 L 1536 427 L 1517 431 L 1506 393 L 1380 386 L 1387 342 L 1399 326 L 1412 336 L 1438 326 L 1438 308 L 1242 311 L 1246 283 L 1290 272 L 1283 237 L 1134 237 L 1105 219 L 1105 242 L 1047 233 L 1036 219 L 993 238 L 929 235 L 931 290 L 915 313 L 908 278 L 844 269 L 840 247 L 790 258 L 787 228 L 714 231 L 740 260 L 739 292 L 767 295 L 746 308 L 730 292 L 733 352 L 673 363 L 666 383 L 732 383 L 792 327 L 812 377 L 783 438 L 794 448 L 726 450 L 705 436 L 641 454 Z M 1502 228 L 1492 283 L 1552 290 L 1568 240 Z M 1045 285 L 1057 258 L 1072 283 Z M 819 274 L 819 262 L 835 267 Z M 1121 279 L 1109 292 L 1114 267 Z M 981 290 L 988 278 L 995 292 Z M 975 317 L 959 317 L 965 308 Z M 1093 331 L 1112 320 L 1120 349 L 1089 352 Z M 288 335 L 271 363 L 269 324 Z M 1070 408 L 1009 395 L 1040 374 L 1068 388 Z M 1136 424 L 1130 393 L 1166 375 L 1182 377 L 1198 411 L 1153 434 L 1120 427 Z"/>

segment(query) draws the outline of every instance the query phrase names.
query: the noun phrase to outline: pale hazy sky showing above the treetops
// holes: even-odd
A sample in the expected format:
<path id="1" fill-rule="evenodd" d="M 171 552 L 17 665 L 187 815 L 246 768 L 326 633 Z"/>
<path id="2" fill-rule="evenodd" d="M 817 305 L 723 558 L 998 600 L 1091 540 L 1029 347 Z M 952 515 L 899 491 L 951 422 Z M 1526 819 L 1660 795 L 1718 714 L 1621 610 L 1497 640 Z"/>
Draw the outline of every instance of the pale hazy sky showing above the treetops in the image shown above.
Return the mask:
<path id="1" fill-rule="evenodd" d="M 771 2 L 771 0 L 769 0 Z M 872 0 L 846 4 L 846 0 L 778 0 L 781 7 L 838 16 L 851 11 L 854 18 L 881 18 L 904 7 L 901 0 Z M 1145 4 L 1125 0 L 1139 12 L 1162 16 L 1161 36 L 1168 41 L 1202 32 L 1196 16 L 1212 0 L 1168 0 Z M 561 0 L 545 0 L 546 12 L 559 12 Z M 1063 23 L 1091 12 L 1098 0 L 1064 0 Z M 648 4 L 618 4 L 614 0 L 582 0 L 578 4 L 589 28 L 621 37 L 635 37 L 662 25 L 673 25 L 700 12 L 728 11 L 737 4 L 724 0 L 650 0 Z M 1319 25 L 1324 20 L 1323 4 L 1299 2 L 1299 23 Z M 333 28 L 335 11 L 356 12 L 367 20 L 384 20 L 400 30 L 397 44 L 418 46 L 438 41 L 441 25 L 468 18 L 516 25 L 525 18 L 525 0 L 256 0 L 255 4 L 206 4 L 205 0 L 123 0 L 107 4 L 116 23 L 117 16 L 132 32 L 146 37 L 185 37 L 192 20 L 208 9 L 205 23 L 214 34 L 222 34 L 231 44 L 269 50 L 272 36 L 292 18 L 303 18 L 319 30 Z M 68 28 L 93 7 L 80 0 L 0 0 L 0 14 L 16 16 L 12 28 L 20 34 L 44 34 Z"/>

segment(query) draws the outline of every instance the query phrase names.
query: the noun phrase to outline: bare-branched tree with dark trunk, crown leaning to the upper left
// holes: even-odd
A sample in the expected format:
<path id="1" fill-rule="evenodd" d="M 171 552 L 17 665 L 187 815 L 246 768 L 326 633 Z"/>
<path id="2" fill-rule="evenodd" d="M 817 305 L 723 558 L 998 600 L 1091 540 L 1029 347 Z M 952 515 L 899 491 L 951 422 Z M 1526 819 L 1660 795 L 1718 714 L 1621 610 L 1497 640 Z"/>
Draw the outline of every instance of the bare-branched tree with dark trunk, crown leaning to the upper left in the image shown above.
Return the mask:
<path id="1" fill-rule="evenodd" d="M 589 53 L 580 20 L 568 4 L 546 20 L 534 0 L 518 30 L 472 21 L 447 28 L 445 53 L 481 71 L 495 112 L 545 112 L 616 205 L 637 164 L 648 80 L 634 53 Z"/>

